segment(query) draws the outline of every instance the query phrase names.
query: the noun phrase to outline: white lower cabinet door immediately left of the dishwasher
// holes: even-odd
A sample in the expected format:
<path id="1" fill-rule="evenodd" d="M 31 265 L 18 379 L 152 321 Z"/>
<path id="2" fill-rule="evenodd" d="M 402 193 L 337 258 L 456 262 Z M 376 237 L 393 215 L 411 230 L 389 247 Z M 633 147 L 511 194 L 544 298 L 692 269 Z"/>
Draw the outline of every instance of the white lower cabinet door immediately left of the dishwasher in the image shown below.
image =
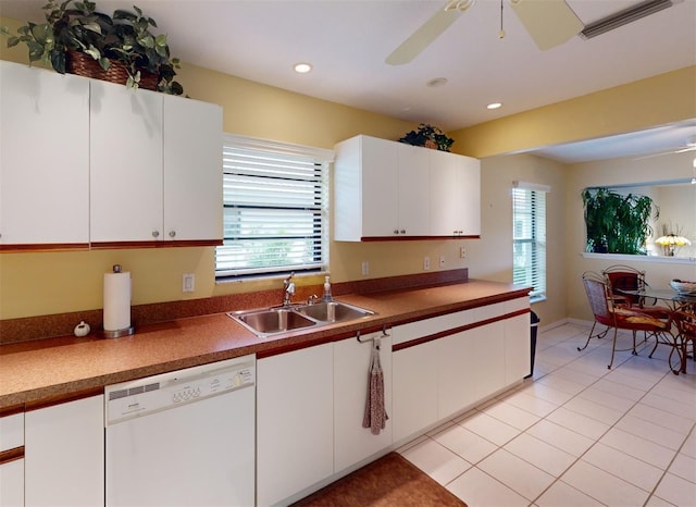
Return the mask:
<path id="1" fill-rule="evenodd" d="M 26 506 L 104 503 L 103 395 L 26 412 Z"/>

